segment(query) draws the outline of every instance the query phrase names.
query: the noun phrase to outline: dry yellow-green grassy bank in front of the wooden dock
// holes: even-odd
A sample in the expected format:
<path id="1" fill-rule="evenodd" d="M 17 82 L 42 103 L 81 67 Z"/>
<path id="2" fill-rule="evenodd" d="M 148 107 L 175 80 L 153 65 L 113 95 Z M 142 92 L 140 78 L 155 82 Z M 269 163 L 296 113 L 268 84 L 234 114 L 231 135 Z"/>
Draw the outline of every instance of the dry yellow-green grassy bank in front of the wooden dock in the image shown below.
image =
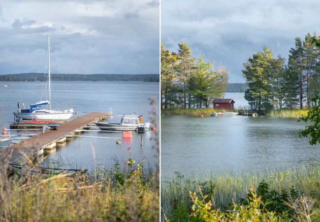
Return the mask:
<path id="1" fill-rule="evenodd" d="M 159 221 L 157 173 L 128 160 L 127 169 L 8 178 L 0 172 L 0 221 Z"/>

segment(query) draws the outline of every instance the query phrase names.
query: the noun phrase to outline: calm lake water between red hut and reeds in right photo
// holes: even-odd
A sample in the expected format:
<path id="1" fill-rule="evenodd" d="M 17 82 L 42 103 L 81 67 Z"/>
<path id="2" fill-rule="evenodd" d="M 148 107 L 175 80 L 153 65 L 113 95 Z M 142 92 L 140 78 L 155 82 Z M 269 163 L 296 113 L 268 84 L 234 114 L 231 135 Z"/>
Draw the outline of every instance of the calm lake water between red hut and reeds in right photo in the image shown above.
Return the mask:
<path id="1" fill-rule="evenodd" d="M 161 115 L 161 178 L 319 164 L 320 146 L 297 136 L 304 127 L 286 117 Z"/>

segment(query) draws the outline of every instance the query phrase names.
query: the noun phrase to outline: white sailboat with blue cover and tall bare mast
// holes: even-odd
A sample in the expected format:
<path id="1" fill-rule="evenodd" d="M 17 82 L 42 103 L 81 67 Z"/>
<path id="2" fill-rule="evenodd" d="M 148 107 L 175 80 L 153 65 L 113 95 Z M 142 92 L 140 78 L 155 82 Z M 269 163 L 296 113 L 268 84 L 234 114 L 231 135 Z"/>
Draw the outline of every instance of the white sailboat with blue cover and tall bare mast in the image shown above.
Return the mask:
<path id="1" fill-rule="evenodd" d="M 51 109 L 51 74 L 50 74 L 50 37 L 48 36 L 48 93 L 49 100 L 40 101 L 25 107 L 23 102 L 18 102 L 18 110 L 14 112 L 18 120 L 68 120 L 76 113 L 73 109 L 57 111 Z"/>

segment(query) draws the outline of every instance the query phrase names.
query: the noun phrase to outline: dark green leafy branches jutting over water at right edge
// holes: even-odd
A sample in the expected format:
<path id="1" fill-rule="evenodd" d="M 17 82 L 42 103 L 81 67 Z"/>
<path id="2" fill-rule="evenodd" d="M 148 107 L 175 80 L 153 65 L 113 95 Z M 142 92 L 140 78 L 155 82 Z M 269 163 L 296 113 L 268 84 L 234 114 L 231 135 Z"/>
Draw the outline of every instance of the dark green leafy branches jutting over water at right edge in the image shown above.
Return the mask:
<path id="1" fill-rule="evenodd" d="M 299 131 L 299 135 L 302 137 L 310 136 L 309 143 L 311 145 L 316 145 L 317 142 L 320 143 L 320 96 L 315 96 L 312 98 L 312 102 L 315 106 L 308 111 L 306 116 L 299 118 L 299 121 L 310 122 L 304 130 Z"/>

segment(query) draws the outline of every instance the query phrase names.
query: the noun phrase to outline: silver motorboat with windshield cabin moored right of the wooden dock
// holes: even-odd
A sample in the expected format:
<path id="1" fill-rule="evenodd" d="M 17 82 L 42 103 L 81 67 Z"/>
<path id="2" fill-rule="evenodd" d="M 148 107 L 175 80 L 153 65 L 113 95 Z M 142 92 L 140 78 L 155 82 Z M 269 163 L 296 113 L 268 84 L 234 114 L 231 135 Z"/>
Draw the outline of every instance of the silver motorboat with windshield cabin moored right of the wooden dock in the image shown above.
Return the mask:
<path id="1" fill-rule="evenodd" d="M 95 124 L 101 130 L 134 131 L 138 130 L 142 120 L 142 115 L 123 115 L 120 123 L 96 122 Z M 144 125 L 146 129 L 150 127 L 150 123 Z"/>

